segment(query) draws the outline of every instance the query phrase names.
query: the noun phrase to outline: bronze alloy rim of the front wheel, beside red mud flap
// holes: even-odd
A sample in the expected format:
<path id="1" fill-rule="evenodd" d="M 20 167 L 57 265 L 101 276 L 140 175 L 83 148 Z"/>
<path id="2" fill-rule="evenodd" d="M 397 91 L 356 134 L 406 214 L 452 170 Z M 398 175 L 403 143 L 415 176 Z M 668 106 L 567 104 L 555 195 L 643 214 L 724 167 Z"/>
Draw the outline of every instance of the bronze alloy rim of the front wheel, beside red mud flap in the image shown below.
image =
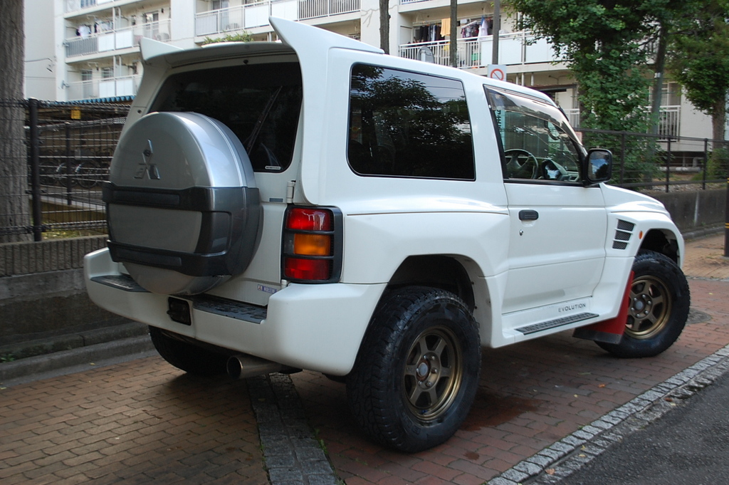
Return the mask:
<path id="1" fill-rule="evenodd" d="M 633 338 L 651 338 L 660 333 L 671 316 L 671 292 L 655 276 L 641 276 L 631 286 L 631 306 L 625 333 Z"/>

